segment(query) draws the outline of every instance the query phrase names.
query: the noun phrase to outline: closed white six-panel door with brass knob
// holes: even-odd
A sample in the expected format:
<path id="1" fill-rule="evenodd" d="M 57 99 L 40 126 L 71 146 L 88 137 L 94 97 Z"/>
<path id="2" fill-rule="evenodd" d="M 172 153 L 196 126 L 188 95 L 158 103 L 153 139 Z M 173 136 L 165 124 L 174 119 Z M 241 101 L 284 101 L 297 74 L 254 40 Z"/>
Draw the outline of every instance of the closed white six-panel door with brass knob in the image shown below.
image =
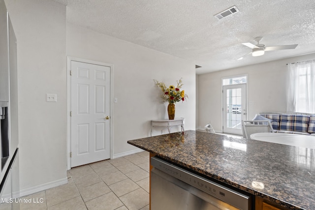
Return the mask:
<path id="1" fill-rule="evenodd" d="M 110 158 L 110 67 L 71 61 L 71 167 Z"/>

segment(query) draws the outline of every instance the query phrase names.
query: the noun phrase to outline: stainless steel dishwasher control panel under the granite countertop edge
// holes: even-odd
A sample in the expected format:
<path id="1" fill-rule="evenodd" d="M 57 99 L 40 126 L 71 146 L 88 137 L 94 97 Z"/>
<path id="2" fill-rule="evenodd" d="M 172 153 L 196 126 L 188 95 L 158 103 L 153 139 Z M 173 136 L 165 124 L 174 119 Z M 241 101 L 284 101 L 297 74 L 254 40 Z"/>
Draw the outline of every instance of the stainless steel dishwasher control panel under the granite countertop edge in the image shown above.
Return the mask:
<path id="1" fill-rule="evenodd" d="M 151 165 L 178 180 L 184 181 L 187 184 L 220 199 L 221 201 L 228 202 L 236 208 L 242 210 L 249 209 L 250 197 L 247 195 L 227 188 L 214 181 L 207 180 L 197 174 L 189 172 L 157 157 L 151 157 Z"/>

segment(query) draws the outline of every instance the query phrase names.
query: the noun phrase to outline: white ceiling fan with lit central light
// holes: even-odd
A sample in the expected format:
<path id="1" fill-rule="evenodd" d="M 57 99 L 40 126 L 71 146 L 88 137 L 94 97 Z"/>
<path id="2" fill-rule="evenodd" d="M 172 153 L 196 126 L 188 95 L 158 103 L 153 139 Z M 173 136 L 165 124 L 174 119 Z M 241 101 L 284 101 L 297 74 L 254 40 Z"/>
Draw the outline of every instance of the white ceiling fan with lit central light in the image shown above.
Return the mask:
<path id="1" fill-rule="evenodd" d="M 257 42 L 256 45 L 246 42 L 242 43 L 247 47 L 252 48 L 252 52 L 246 54 L 245 56 L 239 58 L 238 60 L 242 60 L 244 57 L 252 54 L 252 56 L 262 56 L 265 54 L 265 51 L 273 51 L 273 50 L 290 50 L 290 49 L 295 49 L 297 44 L 291 44 L 291 45 L 281 45 L 281 46 L 270 46 L 270 47 L 265 47 L 264 44 L 259 44 L 261 41 L 262 37 L 256 37 L 254 40 Z"/>

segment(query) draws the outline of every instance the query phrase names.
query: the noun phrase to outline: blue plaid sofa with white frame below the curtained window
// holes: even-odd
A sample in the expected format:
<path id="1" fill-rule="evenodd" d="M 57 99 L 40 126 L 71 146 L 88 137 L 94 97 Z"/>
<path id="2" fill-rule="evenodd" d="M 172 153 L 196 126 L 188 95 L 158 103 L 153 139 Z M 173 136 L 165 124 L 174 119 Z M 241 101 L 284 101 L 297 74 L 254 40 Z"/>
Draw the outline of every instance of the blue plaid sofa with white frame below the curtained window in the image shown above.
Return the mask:
<path id="1" fill-rule="evenodd" d="M 315 114 L 262 112 L 259 115 L 271 120 L 275 132 L 315 136 Z"/>

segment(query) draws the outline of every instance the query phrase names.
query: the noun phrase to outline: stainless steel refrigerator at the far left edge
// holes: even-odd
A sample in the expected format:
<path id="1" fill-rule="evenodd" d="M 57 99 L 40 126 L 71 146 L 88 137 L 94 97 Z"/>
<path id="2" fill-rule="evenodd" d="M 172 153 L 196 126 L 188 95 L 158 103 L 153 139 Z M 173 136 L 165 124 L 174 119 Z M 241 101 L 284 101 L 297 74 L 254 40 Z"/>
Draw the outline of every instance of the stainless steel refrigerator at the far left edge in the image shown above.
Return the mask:
<path id="1" fill-rule="evenodd" d="M 0 0 L 0 210 L 19 209 L 17 41 Z"/>

